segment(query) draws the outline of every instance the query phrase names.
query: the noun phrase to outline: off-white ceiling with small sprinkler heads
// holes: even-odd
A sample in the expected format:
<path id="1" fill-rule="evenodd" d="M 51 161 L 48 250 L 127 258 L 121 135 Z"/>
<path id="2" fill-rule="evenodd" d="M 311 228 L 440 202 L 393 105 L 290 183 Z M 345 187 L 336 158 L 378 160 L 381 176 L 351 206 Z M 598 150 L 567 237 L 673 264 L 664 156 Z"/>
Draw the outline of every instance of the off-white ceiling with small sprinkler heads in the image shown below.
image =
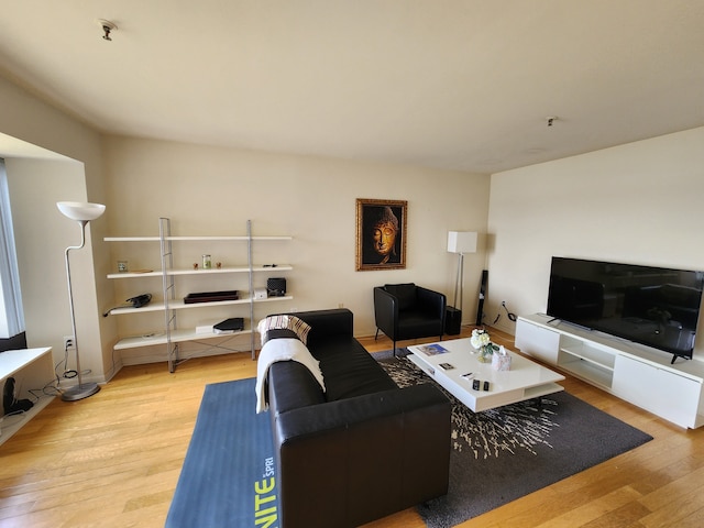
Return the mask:
<path id="1" fill-rule="evenodd" d="M 0 74 L 106 133 L 494 173 L 704 125 L 704 0 L 0 12 Z"/>

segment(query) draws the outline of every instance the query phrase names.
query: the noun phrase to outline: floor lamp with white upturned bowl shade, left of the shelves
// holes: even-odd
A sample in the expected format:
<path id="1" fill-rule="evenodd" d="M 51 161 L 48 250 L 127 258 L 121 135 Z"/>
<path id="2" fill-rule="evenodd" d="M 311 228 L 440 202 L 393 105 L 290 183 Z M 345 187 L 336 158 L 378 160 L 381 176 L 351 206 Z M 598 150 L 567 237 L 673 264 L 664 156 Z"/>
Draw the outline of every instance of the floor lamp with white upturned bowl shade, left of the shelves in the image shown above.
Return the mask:
<path id="1" fill-rule="evenodd" d="M 78 340 L 76 339 L 76 315 L 74 312 L 74 292 L 70 285 L 70 264 L 68 260 L 68 252 L 70 250 L 80 250 L 86 245 L 86 224 L 90 220 L 95 220 L 100 217 L 106 210 L 106 206 L 101 204 L 87 204 L 79 201 L 59 201 L 56 204 L 58 210 L 65 217 L 76 220 L 80 224 L 80 245 L 69 245 L 66 248 L 66 278 L 68 280 L 68 302 L 70 305 L 70 324 L 74 332 L 74 348 L 76 349 L 76 372 L 78 373 L 78 385 L 70 387 L 62 394 L 64 402 L 76 402 L 77 399 L 87 398 L 92 396 L 100 386 L 97 383 L 82 383 L 80 373 L 80 359 L 78 355 Z"/>

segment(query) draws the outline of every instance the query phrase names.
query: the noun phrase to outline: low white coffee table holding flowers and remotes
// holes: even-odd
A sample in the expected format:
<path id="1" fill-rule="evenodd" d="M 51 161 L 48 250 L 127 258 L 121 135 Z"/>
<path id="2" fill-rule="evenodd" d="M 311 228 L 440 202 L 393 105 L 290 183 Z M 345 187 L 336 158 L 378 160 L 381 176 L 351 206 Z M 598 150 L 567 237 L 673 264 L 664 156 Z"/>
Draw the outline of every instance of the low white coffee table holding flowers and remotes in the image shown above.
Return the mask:
<path id="1" fill-rule="evenodd" d="M 447 352 L 429 355 L 424 352 L 427 346 L 441 346 Z M 494 371 L 491 363 L 480 363 L 479 352 L 469 338 L 408 346 L 408 350 L 410 361 L 474 413 L 564 391 L 557 383 L 564 376 L 510 351 L 509 371 Z M 479 391 L 472 387 L 474 380 L 480 381 Z M 484 382 L 488 382 L 488 391 L 484 391 Z"/>

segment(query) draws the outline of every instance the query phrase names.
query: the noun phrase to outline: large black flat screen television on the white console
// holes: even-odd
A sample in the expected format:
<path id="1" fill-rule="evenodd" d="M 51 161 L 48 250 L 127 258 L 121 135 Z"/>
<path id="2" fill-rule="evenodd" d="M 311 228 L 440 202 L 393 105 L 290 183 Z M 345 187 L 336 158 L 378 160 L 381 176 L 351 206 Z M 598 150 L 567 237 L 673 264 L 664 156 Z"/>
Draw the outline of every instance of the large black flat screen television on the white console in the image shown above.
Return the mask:
<path id="1" fill-rule="evenodd" d="M 704 272 L 552 257 L 548 316 L 692 359 Z"/>

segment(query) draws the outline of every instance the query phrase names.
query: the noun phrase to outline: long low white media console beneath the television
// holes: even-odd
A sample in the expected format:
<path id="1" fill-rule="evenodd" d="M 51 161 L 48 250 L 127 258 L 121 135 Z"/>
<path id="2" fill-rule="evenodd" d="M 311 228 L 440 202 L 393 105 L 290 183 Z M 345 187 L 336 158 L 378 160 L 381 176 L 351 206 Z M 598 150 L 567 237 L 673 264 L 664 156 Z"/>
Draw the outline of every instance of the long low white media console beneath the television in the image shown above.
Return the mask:
<path id="1" fill-rule="evenodd" d="M 704 425 L 704 363 L 606 333 L 519 317 L 516 348 L 681 427 Z"/>

